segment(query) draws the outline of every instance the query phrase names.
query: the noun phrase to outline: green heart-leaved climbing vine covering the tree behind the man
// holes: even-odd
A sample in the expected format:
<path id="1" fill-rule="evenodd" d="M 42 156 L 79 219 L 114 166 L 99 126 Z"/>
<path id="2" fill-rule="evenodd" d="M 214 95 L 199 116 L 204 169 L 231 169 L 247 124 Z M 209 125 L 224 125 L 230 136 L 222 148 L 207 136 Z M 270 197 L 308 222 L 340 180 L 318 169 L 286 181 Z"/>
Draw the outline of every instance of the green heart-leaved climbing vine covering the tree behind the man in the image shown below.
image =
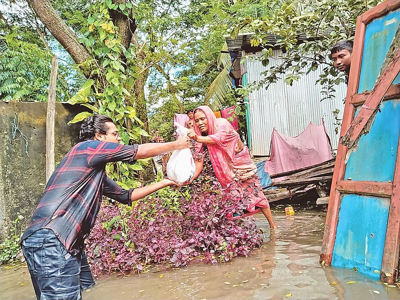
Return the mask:
<path id="1" fill-rule="evenodd" d="M 139 71 L 135 63 L 135 51 L 132 46 L 127 49 L 123 46 L 118 27 L 110 15 L 110 11 L 129 15 L 133 7 L 132 2 L 118 5 L 111 0 L 98 1 L 91 6 L 80 38 L 92 55 L 80 66 L 84 73 L 90 74 L 90 78 L 69 100 L 72 104 L 81 103 L 93 113 L 110 116 L 124 144 L 131 144 L 140 136 L 148 136 L 142 128 L 142 121 L 136 116 L 135 108 L 128 105 L 134 102 L 130 92 Z M 70 123 L 79 122 L 90 114 L 87 111 L 80 112 Z M 141 159 L 135 164 L 109 164 L 107 172 L 122 187 L 136 187 L 140 183 L 132 179 L 134 173 L 142 170 L 147 162 L 148 159 Z"/>

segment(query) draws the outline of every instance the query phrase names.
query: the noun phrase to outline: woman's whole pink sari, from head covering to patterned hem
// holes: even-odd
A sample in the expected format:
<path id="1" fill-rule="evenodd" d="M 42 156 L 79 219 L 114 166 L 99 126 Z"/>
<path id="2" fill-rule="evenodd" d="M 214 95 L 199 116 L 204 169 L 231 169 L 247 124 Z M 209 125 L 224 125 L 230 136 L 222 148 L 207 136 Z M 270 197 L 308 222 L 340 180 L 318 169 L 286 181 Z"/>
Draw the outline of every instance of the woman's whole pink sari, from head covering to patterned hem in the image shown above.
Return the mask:
<path id="1" fill-rule="evenodd" d="M 225 192 L 239 199 L 246 209 L 232 213 L 228 218 L 239 218 L 260 211 L 258 207 L 269 207 L 268 200 L 262 192 L 258 179 L 257 168 L 250 158 L 248 148 L 235 154 L 239 134 L 233 129 L 228 120 L 216 118 L 211 108 L 202 105 L 197 107 L 204 112 L 208 122 L 208 137 L 216 144 L 207 144 L 212 168 Z M 194 109 L 194 110 L 196 110 Z M 197 135 L 201 135 L 194 126 Z M 201 152 L 202 144 L 196 143 L 195 152 Z M 236 215 L 235 215 L 236 214 Z"/>

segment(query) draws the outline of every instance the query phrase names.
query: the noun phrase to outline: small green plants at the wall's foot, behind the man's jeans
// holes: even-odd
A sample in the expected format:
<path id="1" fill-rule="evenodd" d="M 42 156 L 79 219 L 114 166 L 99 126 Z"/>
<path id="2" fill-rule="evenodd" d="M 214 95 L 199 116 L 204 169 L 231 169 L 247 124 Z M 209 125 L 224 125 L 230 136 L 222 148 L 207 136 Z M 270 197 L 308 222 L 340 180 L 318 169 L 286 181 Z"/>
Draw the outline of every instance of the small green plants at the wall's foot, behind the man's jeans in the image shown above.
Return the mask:
<path id="1" fill-rule="evenodd" d="M 22 234 L 20 230 L 18 230 L 18 221 L 19 219 L 16 218 L 12 222 L 8 238 L 0 243 L 0 264 L 10 263 L 17 260 L 21 251 L 19 242 Z"/>

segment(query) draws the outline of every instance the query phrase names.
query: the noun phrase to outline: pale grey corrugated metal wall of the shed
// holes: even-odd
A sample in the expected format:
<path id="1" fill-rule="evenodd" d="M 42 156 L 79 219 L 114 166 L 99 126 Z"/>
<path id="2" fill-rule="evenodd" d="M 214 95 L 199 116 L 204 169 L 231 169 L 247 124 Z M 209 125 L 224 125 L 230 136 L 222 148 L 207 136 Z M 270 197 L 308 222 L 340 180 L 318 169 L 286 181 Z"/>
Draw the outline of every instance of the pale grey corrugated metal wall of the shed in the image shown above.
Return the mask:
<path id="1" fill-rule="evenodd" d="M 282 51 L 274 50 L 274 54 L 277 58 L 282 55 Z M 270 59 L 268 67 L 280 62 L 281 59 Z M 266 67 L 262 66 L 260 61 L 248 59 L 245 64 L 249 83 L 262 78 L 260 73 Z M 261 87 L 249 94 L 252 155 L 269 155 L 271 133 L 274 127 L 284 135 L 296 136 L 309 122 L 320 124 L 322 117 L 332 148 L 337 148 L 339 134 L 334 131 L 335 120 L 332 111 L 338 108 L 339 117 L 342 117 L 347 86 L 344 83 L 335 86 L 335 97 L 320 101 L 323 97 L 322 87 L 320 84 L 315 84 L 315 80 L 321 73 L 322 67 L 319 66 L 316 71 L 302 75 L 291 86 L 280 79 L 269 85 L 266 90 Z"/>

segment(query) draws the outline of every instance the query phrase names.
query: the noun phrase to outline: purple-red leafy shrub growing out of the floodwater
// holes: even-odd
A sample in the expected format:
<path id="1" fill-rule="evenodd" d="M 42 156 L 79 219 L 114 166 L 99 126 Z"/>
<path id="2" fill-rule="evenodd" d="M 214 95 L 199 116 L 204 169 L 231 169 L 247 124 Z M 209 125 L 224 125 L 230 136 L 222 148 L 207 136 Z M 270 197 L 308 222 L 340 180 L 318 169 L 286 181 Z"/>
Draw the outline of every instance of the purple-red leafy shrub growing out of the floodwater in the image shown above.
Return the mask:
<path id="1" fill-rule="evenodd" d="M 104 201 L 86 239 L 94 275 L 139 272 L 150 263 L 185 266 L 194 258 L 217 263 L 260 247 L 253 220 L 226 218 L 244 205 L 223 194 L 209 160 L 205 166 L 189 187 L 161 189 L 132 207 Z"/>

